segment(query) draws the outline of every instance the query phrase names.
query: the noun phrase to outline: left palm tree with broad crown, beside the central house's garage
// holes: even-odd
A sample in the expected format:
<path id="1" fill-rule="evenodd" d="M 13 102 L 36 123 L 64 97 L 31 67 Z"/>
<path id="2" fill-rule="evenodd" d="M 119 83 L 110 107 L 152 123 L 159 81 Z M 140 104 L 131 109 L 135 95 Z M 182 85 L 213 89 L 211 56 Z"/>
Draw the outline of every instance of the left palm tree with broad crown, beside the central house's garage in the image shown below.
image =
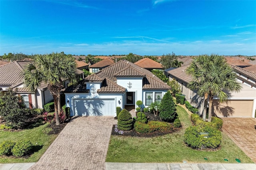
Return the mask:
<path id="1" fill-rule="evenodd" d="M 56 125 L 59 125 L 60 90 L 64 87 L 63 80 L 77 82 L 75 59 L 62 53 L 35 55 L 32 59 L 34 62 L 24 70 L 25 84 L 32 91 L 35 91 L 41 83 L 48 84 L 54 99 Z"/>

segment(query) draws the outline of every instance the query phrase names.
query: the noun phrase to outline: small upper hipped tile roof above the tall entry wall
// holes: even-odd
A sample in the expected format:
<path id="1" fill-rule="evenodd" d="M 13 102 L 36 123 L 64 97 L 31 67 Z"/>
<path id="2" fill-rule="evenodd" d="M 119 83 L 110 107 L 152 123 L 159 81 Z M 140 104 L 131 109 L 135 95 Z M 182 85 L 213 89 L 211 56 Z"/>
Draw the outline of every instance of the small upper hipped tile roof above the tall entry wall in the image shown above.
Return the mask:
<path id="1" fill-rule="evenodd" d="M 145 77 L 146 74 L 128 65 L 114 74 L 114 77 Z"/>

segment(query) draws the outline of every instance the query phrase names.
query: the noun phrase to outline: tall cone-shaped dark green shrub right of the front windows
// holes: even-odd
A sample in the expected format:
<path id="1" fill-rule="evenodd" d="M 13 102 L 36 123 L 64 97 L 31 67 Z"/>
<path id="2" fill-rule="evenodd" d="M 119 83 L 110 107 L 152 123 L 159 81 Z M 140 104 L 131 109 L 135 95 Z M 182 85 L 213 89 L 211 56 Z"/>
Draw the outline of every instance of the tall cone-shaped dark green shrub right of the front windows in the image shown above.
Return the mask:
<path id="1" fill-rule="evenodd" d="M 159 106 L 159 116 L 163 121 L 172 121 L 176 117 L 176 108 L 170 91 L 167 91 Z"/>

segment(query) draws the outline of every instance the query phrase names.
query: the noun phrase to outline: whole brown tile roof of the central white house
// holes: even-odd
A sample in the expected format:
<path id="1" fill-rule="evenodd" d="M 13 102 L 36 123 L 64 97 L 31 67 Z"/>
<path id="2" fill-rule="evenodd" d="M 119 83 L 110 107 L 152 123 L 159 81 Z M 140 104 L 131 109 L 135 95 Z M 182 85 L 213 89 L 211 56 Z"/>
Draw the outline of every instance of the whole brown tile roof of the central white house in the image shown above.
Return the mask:
<path id="1" fill-rule="evenodd" d="M 92 81 L 96 77 L 103 79 L 102 86 L 97 90 L 98 93 L 124 93 L 126 89 L 116 83 L 116 77 L 143 77 L 142 79 L 142 89 L 170 89 L 171 87 L 156 77 L 153 73 L 144 69 L 134 63 L 126 60 L 120 60 L 117 63 L 106 67 L 97 73 L 89 75 L 84 81 Z M 79 83 L 79 87 L 82 87 Z M 70 86 L 66 89 L 66 93 L 78 93 L 81 91 L 78 86 Z M 82 87 L 84 88 L 84 87 Z M 85 92 L 86 93 L 86 92 Z"/>

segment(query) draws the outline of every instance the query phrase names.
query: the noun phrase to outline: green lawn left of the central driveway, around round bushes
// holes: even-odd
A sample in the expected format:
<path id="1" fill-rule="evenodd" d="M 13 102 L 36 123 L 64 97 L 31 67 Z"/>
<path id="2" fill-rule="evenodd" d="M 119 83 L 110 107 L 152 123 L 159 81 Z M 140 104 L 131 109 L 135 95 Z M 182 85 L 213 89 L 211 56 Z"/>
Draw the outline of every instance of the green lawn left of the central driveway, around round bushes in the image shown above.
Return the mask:
<path id="1" fill-rule="evenodd" d="M 47 135 L 43 133 L 43 129 L 47 127 L 48 124 L 40 125 L 39 127 L 34 127 L 32 129 L 25 129 L 17 132 L 10 132 L 0 130 L 0 143 L 4 140 L 22 140 L 28 139 L 33 145 L 37 146 L 37 152 L 34 152 L 28 158 L 10 158 L 6 156 L 0 156 L 0 163 L 17 163 L 17 162 L 37 162 L 39 158 L 44 154 L 46 149 L 57 137 L 56 134 Z"/>

